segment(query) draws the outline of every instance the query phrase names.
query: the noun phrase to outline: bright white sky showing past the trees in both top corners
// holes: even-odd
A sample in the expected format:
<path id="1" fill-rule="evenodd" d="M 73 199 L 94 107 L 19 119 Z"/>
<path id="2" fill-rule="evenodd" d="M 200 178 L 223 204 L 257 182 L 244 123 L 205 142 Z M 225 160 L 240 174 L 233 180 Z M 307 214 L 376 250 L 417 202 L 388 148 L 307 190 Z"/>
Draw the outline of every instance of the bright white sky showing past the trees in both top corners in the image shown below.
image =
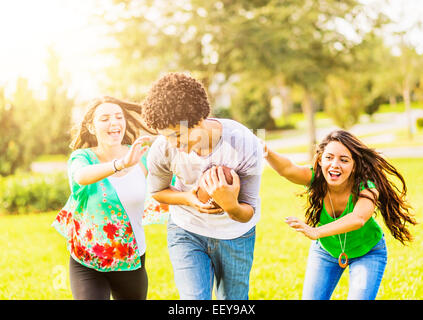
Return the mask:
<path id="1" fill-rule="evenodd" d="M 46 48 L 53 45 L 62 58 L 62 69 L 69 73 L 71 92 L 82 98 L 96 96 L 97 80 L 110 60 L 97 53 L 110 40 L 104 30 L 90 23 L 89 16 L 105 0 L 0 0 L 0 86 L 6 93 L 14 90 L 17 77 L 29 79 L 30 86 L 40 88 L 46 78 Z M 362 0 L 383 7 L 397 21 L 395 28 L 423 23 L 422 0 Z M 423 35 L 410 32 L 410 40 L 423 53 Z M 109 41 L 109 42 L 108 42 Z M 42 97 L 42 91 L 38 91 Z"/>

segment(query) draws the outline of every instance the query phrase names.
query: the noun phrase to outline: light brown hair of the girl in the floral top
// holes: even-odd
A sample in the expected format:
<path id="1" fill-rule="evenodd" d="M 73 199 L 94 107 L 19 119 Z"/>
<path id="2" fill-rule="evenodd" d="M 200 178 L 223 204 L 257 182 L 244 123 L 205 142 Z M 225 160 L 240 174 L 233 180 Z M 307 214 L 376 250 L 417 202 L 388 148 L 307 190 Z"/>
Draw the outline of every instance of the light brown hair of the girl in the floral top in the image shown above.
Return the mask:
<path id="1" fill-rule="evenodd" d="M 157 132 L 148 128 L 141 118 L 141 104 L 120 100 L 110 96 L 102 96 L 91 100 L 82 121 L 72 129 L 73 140 L 70 144 L 72 150 L 81 148 L 91 148 L 97 146 L 97 138 L 88 130 L 88 125 L 92 123 L 97 107 L 103 103 L 113 103 L 121 107 L 126 121 L 126 131 L 123 137 L 123 144 L 132 144 L 140 135 L 141 130 L 156 135 Z"/>

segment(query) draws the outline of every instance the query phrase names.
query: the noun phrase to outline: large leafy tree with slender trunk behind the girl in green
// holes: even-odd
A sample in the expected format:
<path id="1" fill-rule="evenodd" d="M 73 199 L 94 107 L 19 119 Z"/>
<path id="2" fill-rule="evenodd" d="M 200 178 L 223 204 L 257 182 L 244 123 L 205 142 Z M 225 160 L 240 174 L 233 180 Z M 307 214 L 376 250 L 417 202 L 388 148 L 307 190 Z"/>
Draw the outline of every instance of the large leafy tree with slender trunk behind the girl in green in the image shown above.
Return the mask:
<path id="1" fill-rule="evenodd" d="M 282 84 L 301 89 L 312 157 L 316 144 L 316 104 L 326 89 L 327 77 L 351 68 L 349 51 L 356 45 L 356 40 L 343 34 L 336 23 L 342 21 L 359 29 L 354 17 L 363 15 L 361 6 L 357 1 L 306 0 L 232 4 L 238 5 L 235 10 L 238 15 L 230 10 L 235 21 L 231 30 L 236 32 L 233 38 L 225 37 L 222 43 L 226 50 L 222 51 L 236 53 L 232 54 L 227 69 L 261 78 L 262 74 L 267 75 L 263 86 Z"/>

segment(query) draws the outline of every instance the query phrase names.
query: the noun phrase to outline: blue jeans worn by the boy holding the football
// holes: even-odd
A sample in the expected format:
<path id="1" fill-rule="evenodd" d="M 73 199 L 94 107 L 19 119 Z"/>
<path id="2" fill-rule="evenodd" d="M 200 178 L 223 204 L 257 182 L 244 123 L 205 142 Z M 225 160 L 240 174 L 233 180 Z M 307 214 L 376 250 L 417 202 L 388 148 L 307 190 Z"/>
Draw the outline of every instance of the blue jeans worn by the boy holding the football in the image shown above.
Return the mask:
<path id="1" fill-rule="evenodd" d="M 253 264 L 255 227 L 244 235 L 221 240 L 186 231 L 169 219 L 167 241 L 181 299 L 247 300 Z"/>

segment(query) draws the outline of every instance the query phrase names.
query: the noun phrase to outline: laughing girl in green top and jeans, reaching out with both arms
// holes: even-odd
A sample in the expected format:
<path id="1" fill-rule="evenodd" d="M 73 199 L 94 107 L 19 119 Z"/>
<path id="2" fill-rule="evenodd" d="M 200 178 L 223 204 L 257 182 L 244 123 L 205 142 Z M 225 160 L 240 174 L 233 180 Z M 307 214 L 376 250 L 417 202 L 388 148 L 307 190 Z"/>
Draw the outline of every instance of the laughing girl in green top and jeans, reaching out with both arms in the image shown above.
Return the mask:
<path id="1" fill-rule="evenodd" d="M 308 186 L 306 222 L 296 217 L 286 223 L 316 240 L 310 248 L 303 299 L 330 299 L 348 265 L 348 299 L 376 298 L 387 252 L 377 209 L 395 239 L 412 237 L 406 223 L 416 224 L 405 201 L 401 174 L 351 133 L 336 130 L 318 146 L 313 167 L 298 166 L 265 146 L 271 167 L 289 181 Z M 402 190 L 388 180 L 399 179 Z"/>

